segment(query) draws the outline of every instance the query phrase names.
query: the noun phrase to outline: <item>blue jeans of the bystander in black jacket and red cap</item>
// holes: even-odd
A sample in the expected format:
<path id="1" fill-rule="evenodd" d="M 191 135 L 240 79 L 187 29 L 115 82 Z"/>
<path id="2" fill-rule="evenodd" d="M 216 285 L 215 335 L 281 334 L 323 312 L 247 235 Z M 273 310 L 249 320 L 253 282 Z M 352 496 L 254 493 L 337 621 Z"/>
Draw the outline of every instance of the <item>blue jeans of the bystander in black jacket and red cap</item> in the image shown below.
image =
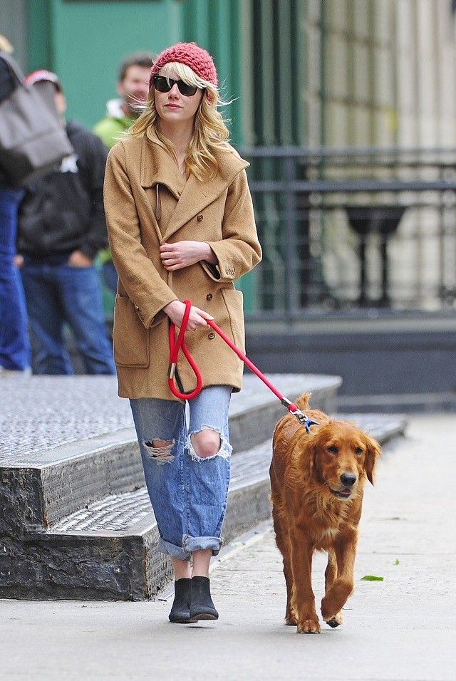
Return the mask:
<path id="1" fill-rule="evenodd" d="M 21 270 L 39 374 L 72 374 L 65 323 L 88 374 L 114 374 L 113 350 L 103 316 L 95 267 L 72 267 L 68 257 L 24 258 Z"/>

